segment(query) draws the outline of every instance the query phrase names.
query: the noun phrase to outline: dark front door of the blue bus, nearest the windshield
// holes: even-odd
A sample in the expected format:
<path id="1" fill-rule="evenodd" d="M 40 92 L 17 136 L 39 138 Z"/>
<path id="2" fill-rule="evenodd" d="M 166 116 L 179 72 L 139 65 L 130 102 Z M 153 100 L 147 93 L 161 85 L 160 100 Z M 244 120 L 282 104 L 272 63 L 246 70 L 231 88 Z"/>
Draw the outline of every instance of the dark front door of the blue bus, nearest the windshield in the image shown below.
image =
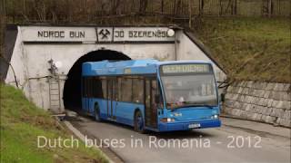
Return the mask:
<path id="1" fill-rule="evenodd" d="M 155 95 L 157 93 L 156 78 L 146 78 L 145 89 L 146 89 L 145 91 L 146 127 L 156 128 L 157 127 L 157 104 L 155 101 Z"/>

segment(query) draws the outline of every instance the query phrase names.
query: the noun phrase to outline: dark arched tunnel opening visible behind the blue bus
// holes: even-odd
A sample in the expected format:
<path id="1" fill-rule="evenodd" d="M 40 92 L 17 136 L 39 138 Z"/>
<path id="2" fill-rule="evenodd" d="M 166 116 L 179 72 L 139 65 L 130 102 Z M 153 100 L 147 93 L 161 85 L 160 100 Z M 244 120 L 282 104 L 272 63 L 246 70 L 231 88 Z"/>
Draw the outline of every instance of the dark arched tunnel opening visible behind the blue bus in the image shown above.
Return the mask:
<path id="1" fill-rule="evenodd" d="M 98 50 L 86 53 L 80 57 L 70 71 L 67 73 L 65 80 L 63 101 L 64 107 L 67 110 L 80 110 L 81 109 L 81 72 L 83 62 L 99 62 L 103 60 L 131 60 L 124 53 L 119 53 L 111 50 Z"/>

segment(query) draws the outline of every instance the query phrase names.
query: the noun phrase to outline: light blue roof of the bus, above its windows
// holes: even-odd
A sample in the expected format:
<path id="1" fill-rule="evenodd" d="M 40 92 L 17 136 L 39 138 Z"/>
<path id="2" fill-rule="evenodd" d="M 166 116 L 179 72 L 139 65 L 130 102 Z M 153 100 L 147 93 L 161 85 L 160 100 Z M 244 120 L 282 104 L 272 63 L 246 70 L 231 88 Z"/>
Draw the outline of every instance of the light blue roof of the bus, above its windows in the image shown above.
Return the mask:
<path id="1" fill-rule="evenodd" d="M 82 76 L 121 75 L 121 74 L 153 74 L 157 67 L 164 64 L 176 63 L 211 63 L 206 61 L 167 61 L 159 62 L 154 59 L 128 60 L 119 62 L 84 62 Z"/>

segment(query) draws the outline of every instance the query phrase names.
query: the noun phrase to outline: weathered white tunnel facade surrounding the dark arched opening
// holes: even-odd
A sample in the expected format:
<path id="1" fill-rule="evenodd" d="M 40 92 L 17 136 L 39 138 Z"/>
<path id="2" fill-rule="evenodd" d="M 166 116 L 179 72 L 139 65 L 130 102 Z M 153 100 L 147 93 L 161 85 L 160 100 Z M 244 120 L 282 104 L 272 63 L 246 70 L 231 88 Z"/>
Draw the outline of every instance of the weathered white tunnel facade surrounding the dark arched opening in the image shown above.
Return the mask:
<path id="1" fill-rule="evenodd" d="M 146 59 L 160 61 L 204 60 L 213 62 L 218 82 L 226 79 L 226 73 L 181 29 L 166 26 L 17 26 L 15 45 L 10 55 L 11 66 L 5 82 L 17 84 L 26 97 L 45 110 L 50 109 L 50 63 L 57 63 L 61 110 L 64 109 L 64 85 L 75 62 L 90 55 L 88 61 Z M 93 57 L 98 55 L 98 57 Z M 90 59 L 91 58 L 91 59 Z M 95 58 L 95 59 L 94 59 Z"/>

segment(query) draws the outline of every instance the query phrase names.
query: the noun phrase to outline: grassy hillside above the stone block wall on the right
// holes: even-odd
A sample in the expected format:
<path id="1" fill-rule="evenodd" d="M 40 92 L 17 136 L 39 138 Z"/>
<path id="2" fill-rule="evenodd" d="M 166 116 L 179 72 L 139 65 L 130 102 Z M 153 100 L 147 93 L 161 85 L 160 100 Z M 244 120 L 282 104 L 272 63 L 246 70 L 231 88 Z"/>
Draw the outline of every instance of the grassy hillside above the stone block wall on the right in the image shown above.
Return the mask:
<path id="1" fill-rule="evenodd" d="M 290 82 L 290 18 L 203 18 L 194 30 L 232 79 Z"/>

